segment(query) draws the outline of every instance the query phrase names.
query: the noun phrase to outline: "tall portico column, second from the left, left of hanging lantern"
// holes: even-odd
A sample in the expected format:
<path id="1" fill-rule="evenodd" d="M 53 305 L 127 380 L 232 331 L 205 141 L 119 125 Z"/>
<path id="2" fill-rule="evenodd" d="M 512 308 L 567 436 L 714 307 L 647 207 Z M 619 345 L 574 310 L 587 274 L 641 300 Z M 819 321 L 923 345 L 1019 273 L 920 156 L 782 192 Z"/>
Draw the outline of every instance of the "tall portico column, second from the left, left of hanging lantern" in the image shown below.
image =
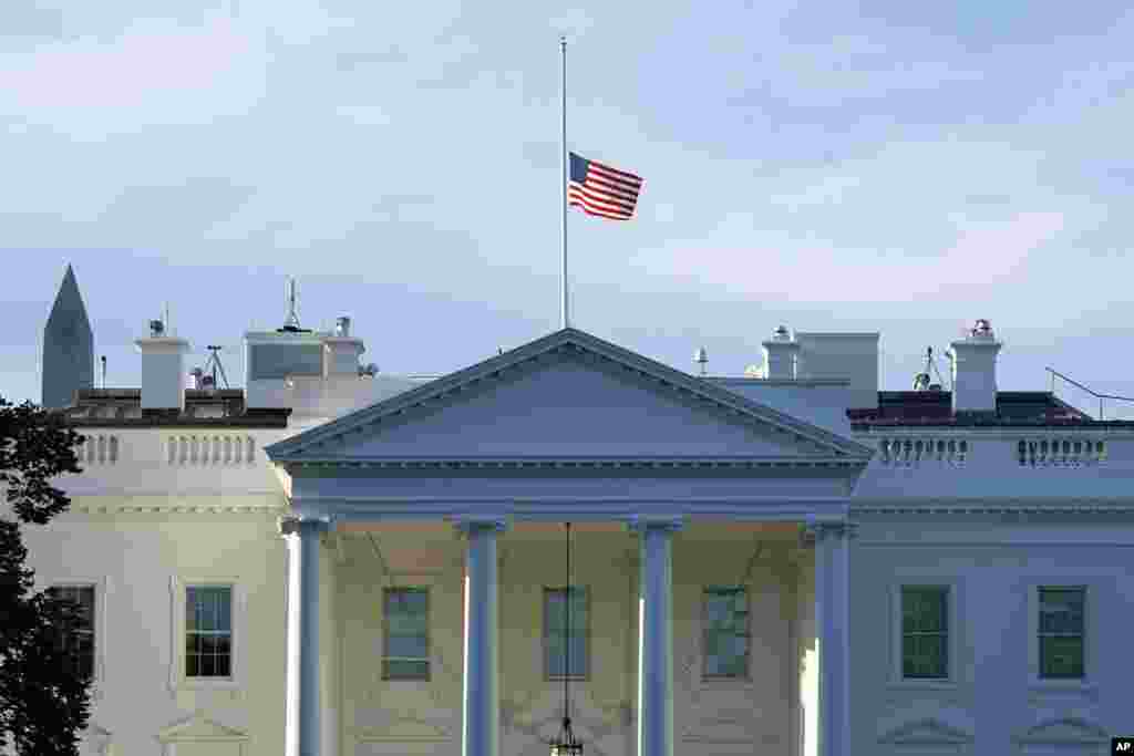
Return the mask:
<path id="1" fill-rule="evenodd" d="M 465 674 L 460 753 L 498 756 L 500 696 L 497 647 L 497 533 L 502 520 L 469 520 L 465 561 Z"/>

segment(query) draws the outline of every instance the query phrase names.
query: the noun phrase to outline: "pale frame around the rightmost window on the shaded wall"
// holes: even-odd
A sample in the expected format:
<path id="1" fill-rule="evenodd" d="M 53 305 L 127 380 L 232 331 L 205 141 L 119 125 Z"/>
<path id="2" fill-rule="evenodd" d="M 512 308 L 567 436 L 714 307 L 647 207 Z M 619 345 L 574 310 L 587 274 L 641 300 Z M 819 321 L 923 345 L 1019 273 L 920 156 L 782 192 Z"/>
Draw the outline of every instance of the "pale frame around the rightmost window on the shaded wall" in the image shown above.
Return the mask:
<path id="1" fill-rule="evenodd" d="M 1033 690 L 1097 690 L 1099 643 L 1099 605 L 1108 593 L 1108 584 L 1082 575 L 1029 576 L 1027 578 L 1027 682 Z M 1040 588 L 1084 588 L 1083 595 L 1083 677 L 1080 679 L 1040 677 Z"/>

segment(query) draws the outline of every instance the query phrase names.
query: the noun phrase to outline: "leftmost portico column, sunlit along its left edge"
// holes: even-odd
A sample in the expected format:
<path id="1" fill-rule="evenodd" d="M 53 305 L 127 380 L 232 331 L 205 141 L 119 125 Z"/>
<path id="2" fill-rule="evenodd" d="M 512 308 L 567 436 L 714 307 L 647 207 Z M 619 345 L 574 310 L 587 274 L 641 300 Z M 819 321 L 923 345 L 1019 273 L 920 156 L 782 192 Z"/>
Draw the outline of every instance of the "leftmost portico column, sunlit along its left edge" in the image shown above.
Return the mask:
<path id="1" fill-rule="evenodd" d="M 299 562 L 298 595 L 288 597 L 288 626 L 299 628 L 298 660 L 288 660 L 288 674 L 296 674 L 298 685 L 298 721 L 293 727 L 298 730 L 299 756 L 319 756 L 321 750 L 320 700 L 319 700 L 319 538 L 329 528 L 321 519 L 289 518 L 280 520 L 280 533 L 297 535 L 289 554 Z M 296 623 L 295 615 L 298 614 Z M 289 644 L 290 645 L 290 644 Z M 291 688 L 289 680 L 289 688 Z M 294 740 L 293 740 L 294 741 Z"/>

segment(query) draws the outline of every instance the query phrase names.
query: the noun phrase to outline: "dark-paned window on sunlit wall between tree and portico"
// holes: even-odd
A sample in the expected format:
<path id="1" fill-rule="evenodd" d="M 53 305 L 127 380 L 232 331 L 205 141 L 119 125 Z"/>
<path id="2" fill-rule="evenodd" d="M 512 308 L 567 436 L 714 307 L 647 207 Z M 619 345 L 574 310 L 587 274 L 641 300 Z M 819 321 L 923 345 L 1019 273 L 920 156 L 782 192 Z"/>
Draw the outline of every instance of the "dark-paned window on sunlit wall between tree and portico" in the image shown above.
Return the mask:
<path id="1" fill-rule="evenodd" d="M 231 586 L 185 588 L 185 677 L 232 676 Z"/>

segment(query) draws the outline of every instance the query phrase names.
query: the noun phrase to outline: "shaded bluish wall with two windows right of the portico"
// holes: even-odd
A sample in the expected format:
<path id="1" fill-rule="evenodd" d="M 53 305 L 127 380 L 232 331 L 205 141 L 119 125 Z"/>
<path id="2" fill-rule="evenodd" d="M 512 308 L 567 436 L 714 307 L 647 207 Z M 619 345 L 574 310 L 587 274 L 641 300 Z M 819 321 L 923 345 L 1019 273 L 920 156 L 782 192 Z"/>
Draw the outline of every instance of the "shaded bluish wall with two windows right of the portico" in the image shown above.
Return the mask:
<path id="1" fill-rule="evenodd" d="M 1108 753 L 1100 733 L 1129 728 L 1131 528 L 939 518 L 868 523 L 853 544 L 853 753 Z M 955 681 L 898 681 L 903 583 L 954 586 Z M 1033 678 L 1036 585 L 1088 586 L 1085 685 Z"/>

